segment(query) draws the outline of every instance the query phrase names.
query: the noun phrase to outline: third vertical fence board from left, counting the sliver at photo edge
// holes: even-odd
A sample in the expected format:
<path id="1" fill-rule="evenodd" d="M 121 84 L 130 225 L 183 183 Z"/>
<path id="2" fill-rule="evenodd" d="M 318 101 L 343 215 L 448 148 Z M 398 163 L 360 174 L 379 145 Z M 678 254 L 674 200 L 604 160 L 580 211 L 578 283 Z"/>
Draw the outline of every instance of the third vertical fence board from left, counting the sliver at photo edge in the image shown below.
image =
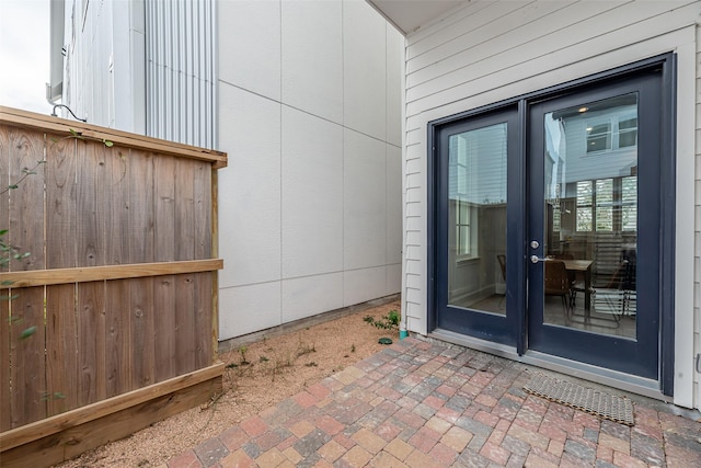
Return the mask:
<path id="1" fill-rule="evenodd" d="M 46 137 L 47 269 L 76 266 L 76 144 L 74 138 Z M 78 408 L 76 290 L 74 284 L 46 288 L 48 415 Z"/>

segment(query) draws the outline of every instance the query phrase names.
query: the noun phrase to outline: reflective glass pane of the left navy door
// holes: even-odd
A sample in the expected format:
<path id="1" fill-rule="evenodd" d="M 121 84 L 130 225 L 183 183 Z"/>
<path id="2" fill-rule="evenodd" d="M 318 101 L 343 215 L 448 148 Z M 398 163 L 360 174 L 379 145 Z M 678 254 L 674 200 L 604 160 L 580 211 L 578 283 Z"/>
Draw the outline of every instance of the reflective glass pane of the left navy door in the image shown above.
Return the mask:
<path id="1" fill-rule="evenodd" d="M 448 139 L 448 305 L 505 315 L 507 126 Z"/>

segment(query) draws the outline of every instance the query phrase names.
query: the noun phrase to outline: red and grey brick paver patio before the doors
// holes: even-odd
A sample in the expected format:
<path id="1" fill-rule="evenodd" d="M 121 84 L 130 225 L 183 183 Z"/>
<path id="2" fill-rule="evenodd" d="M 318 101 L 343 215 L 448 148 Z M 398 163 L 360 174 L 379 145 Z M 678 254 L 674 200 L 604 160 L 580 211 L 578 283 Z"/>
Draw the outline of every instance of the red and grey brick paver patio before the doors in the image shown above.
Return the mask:
<path id="1" fill-rule="evenodd" d="M 536 372 L 407 338 L 166 466 L 701 467 L 701 422 L 641 398 L 600 420 L 526 393 Z"/>

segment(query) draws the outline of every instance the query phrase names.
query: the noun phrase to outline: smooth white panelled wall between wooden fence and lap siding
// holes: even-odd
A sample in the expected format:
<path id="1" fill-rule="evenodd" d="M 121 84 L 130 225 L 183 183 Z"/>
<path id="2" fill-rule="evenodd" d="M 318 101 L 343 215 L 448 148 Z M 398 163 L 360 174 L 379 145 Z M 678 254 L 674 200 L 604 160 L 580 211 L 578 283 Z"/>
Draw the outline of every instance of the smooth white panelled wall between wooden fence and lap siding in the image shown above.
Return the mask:
<path id="1" fill-rule="evenodd" d="M 217 21 L 220 339 L 398 293 L 403 38 L 363 0 Z"/>

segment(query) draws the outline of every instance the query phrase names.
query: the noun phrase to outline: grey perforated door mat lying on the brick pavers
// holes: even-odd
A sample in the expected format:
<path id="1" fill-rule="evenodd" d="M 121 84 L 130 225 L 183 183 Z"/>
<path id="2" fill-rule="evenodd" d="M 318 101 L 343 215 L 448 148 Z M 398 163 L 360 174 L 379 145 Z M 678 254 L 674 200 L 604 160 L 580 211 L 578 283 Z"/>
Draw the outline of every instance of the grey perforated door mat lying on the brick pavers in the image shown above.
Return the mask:
<path id="1" fill-rule="evenodd" d="M 543 374 L 535 374 L 524 386 L 524 390 L 613 422 L 630 426 L 635 424 L 633 403 L 628 398 L 558 380 Z"/>

